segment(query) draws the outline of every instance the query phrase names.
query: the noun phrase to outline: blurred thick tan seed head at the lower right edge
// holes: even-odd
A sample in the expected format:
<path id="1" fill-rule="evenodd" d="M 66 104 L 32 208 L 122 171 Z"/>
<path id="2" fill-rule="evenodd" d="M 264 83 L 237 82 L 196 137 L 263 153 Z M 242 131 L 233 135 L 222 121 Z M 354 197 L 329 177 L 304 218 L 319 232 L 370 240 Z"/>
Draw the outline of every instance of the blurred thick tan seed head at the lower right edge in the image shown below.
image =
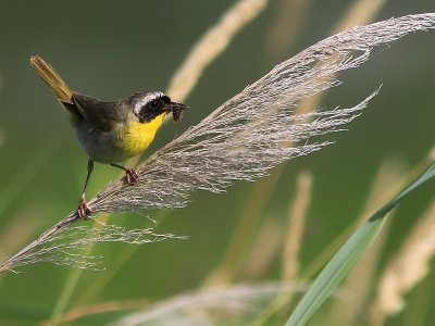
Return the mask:
<path id="1" fill-rule="evenodd" d="M 377 287 L 373 325 L 403 310 L 407 294 L 430 271 L 435 255 L 435 201 L 409 234 L 406 242 L 387 264 Z"/>

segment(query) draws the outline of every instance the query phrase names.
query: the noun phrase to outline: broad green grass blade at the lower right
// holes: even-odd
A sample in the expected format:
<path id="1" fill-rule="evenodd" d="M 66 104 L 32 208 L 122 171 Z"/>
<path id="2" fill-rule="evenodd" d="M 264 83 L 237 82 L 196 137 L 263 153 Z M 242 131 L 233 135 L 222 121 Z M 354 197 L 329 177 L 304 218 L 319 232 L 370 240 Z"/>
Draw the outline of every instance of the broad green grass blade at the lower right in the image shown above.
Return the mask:
<path id="1" fill-rule="evenodd" d="M 326 264 L 288 318 L 286 326 L 301 326 L 338 287 L 381 229 L 386 215 L 417 187 L 435 176 L 435 164 L 403 188 L 395 198 L 366 220 Z"/>

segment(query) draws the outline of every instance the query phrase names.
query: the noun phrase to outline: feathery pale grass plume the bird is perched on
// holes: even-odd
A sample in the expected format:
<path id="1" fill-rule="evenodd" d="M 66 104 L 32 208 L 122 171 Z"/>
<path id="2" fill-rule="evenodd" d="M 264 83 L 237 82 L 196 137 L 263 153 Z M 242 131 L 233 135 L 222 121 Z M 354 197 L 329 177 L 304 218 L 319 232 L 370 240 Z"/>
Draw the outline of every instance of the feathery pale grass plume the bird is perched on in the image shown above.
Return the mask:
<path id="1" fill-rule="evenodd" d="M 192 191 L 219 193 L 235 180 L 253 180 L 279 163 L 320 150 L 331 142 L 318 142 L 313 137 L 343 129 L 375 93 L 350 109 L 302 115 L 295 115 L 297 103 L 338 86 L 336 74 L 363 64 L 374 47 L 434 27 L 435 13 L 408 15 L 355 27 L 318 42 L 275 66 L 153 153 L 138 166 L 137 185 L 127 186 L 121 179 L 109 185 L 88 202 L 90 209 L 97 215 L 182 208 L 188 203 Z M 288 142 L 300 146 L 283 146 Z M 37 258 L 53 261 L 52 255 L 45 258 L 50 252 L 41 250 L 41 246 L 77 221 L 77 214 L 71 213 L 3 262 L 0 272 L 29 261 L 38 262 Z M 123 238 L 122 234 L 119 236 Z M 97 240 L 98 237 L 91 241 Z M 32 260 L 27 259 L 29 255 Z"/>

